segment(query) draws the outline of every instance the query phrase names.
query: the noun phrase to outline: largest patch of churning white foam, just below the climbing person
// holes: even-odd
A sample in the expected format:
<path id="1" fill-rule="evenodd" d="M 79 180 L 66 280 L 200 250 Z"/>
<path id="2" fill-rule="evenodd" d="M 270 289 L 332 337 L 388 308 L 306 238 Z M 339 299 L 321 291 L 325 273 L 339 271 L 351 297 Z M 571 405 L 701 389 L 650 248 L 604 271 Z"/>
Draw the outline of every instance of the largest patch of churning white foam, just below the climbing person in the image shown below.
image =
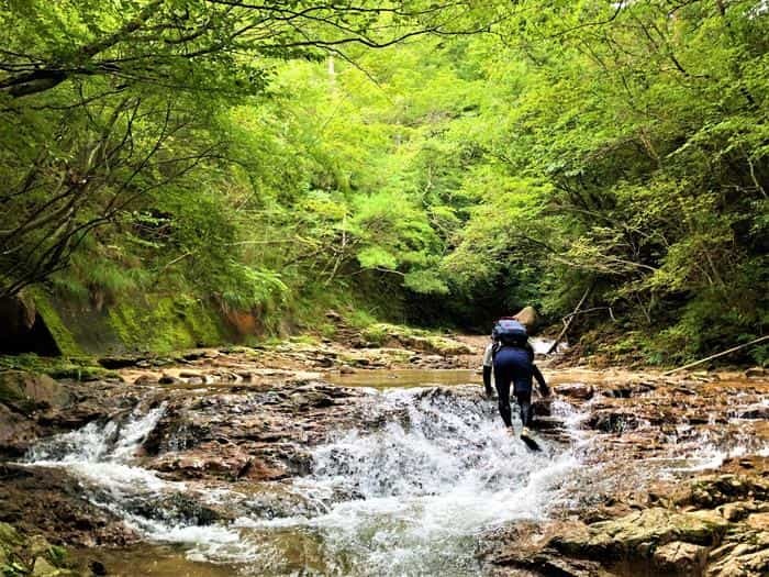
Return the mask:
<path id="1" fill-rule="evenodd" d="M 532 453 L 501 426 L 495 404 L 430 390 L 380 393 L 391 419 L 379 431 L 350 431 L 314 451 L 314 471 L 296 490 L 332 502 L 313 518 L 241 520 L 269 530 L 309 531 L 331 573 L 475 575 L 477 541 L 510 521 L 542 519 L 578 466 L 565 447 Z M 401 411 L 400 413 L 398 411 Z M 278 551 L 263 551 L 275 559 Z"/>

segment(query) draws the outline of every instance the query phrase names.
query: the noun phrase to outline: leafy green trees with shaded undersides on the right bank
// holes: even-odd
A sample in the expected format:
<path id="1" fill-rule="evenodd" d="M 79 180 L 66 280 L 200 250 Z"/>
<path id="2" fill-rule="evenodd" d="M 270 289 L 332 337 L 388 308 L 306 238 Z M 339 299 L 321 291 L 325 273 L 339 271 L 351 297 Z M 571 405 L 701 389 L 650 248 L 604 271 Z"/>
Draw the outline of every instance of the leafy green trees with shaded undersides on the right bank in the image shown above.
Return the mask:
<path id="1" fill-rule="evenodd" d="M 522 12 L 495 60 L 495 84 L 516 91 L 489 149 L 502 174 L 539 184 L 537 215 L 494 197 L 480 218 L 538 223 L 522 229 L 536 241 L 530 257 L 546 263 L 549 310 L 566 312 L 592 286 L 592 307 L 626 313 L 626 331 L 662 330 L 647 345 L 657 358 L 761 334 L 764 3 L 527 4 L 537 10 Z M 479 244 L 493 235 L 472 232 L 489 226 L 471 221 L 449 262 L 468 243 L 502 251 L 499 236 Z"/>

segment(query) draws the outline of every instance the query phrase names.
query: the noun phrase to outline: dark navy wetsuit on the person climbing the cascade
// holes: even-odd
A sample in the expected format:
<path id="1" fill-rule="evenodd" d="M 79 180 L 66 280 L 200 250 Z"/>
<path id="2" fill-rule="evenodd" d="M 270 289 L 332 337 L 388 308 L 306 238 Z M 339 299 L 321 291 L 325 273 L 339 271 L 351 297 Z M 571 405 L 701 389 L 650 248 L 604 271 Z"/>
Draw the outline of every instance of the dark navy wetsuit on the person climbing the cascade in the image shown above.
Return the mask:
<path id="1" fill-rule="evenodd" d="M 534 364 L 534 349 L 531 346 L 500 346 L 494 353 L 494 385 L 499 398 L 500 415 L 506 426 L 513 426 L 510 409 L 510 385 L 521 408 L 523 426 L 531 426 L 534 418 L 532 408 L 532 377 L 537 379 L 543 395 L 550 393 L 545 378 Z"/>

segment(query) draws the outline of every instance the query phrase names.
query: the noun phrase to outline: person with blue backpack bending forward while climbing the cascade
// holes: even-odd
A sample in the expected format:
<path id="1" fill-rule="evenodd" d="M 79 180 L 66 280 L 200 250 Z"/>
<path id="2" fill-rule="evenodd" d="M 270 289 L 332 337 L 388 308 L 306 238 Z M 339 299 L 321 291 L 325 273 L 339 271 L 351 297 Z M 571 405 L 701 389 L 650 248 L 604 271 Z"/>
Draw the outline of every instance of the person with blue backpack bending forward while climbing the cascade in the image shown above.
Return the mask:
<path id="1" fill-rule="evenodd" d="M 514 319 L 500 319 L 492 332 L 492 345 L 487 347 L 483 358 L 483 385 L 487 393 L 491 390 L 489 382 L 491 370 L 487 368 L 487 357 L 491 356 L 494 370 L 494 385 L 499 399 L 502 421 L 511 433 L 514 433 L 512 410 L 510 408 L 510 386 L 521 410 L 523 430 L 521 436 L 531 437 L 530 426 L 534 418 L 532 408 L 532 377 L 537 379 L 539 391 L 544 397 L 550 395 L 545 378 L 534 364 L 534 349 L 528 344 L 526 328 Z M 491 352 L 489 355 L 488 352 Z"/>

